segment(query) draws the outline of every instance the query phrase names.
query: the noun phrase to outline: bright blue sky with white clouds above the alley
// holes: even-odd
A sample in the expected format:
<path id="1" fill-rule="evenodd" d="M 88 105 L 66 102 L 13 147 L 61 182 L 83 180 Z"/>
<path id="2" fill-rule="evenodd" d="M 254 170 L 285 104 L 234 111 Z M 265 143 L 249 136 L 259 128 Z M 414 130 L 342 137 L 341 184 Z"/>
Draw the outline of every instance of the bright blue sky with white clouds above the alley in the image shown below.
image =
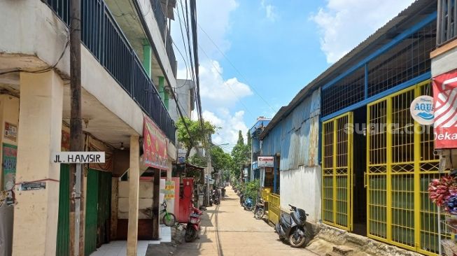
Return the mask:
<path id="1" fill-rule="evenodd" d="M 272 118 L 412 1 L 197 0 L 203 115 L 222 127 L 213 142 L 234 145 L 238 130 Z M 184 52 L 179 12 L 180 0 L 171 35 Z M 176 59 L 178 78 L 188 77 L 177 51 Z"/>

